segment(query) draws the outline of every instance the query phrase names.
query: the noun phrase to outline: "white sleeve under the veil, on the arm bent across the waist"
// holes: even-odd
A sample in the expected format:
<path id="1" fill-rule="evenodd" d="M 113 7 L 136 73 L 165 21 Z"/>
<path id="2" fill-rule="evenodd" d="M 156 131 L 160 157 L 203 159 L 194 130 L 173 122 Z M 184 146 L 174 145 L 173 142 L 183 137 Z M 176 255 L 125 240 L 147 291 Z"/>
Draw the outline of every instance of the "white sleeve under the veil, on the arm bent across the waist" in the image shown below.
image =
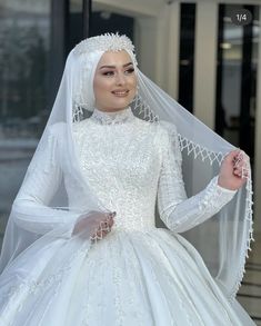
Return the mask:
<path id="1" fill-rule="evenodd" d="M 68 226 L 67 236 L 70 236 L 79 214 L 48 207 L 61 182 L 62 171 L 57 156 L 58 137 L 49 130 L 48 142 L 30 164 L 13 201 L 12 213 L 16 224 L 26 230 L 43 235 L 57 227 Z"/>

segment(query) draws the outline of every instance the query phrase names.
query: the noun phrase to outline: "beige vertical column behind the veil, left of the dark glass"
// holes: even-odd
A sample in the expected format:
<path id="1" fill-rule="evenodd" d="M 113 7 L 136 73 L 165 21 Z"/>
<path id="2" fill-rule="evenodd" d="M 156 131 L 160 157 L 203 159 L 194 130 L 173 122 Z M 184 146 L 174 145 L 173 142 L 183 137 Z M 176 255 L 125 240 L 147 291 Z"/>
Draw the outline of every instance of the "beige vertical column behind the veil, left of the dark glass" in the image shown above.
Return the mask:
<path id="1" fill-rule="evenodd" d="M 197 3 L 194 115 L 214 128 L 218 3 Z"/>

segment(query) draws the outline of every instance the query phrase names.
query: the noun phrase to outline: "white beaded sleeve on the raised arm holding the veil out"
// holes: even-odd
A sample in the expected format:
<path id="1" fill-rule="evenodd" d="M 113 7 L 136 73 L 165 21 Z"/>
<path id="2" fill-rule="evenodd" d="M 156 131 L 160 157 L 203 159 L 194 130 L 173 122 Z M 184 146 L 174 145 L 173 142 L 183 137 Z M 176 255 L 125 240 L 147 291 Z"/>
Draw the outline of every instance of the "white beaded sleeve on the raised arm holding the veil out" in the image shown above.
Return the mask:
<path id="1" fill-rule="evenodd" d="M 177 233 L 187 231 L 218 213 L 237 190 L 218 185 L 218 176 L 195 196 L 187 197 L 182 178 L 182 157 L 177 131 L 161 135 L 161 172 L 158 187 L 160 218 Z"/>

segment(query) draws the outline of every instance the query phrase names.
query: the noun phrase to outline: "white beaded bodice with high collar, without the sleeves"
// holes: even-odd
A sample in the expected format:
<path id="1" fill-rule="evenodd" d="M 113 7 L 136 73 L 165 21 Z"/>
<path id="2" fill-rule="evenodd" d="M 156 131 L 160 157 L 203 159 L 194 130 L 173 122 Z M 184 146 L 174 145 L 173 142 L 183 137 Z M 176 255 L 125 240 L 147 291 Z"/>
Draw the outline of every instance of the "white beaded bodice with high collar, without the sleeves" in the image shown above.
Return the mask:
<path id="1" fill-rule="evenodd" d="M 117 115 L 94 110 L 74 128 L 83 175 L 103 205 L 117 213 L 116 228 L 154 226 L 161 165 L 154 132 L 130 108 Z"/>

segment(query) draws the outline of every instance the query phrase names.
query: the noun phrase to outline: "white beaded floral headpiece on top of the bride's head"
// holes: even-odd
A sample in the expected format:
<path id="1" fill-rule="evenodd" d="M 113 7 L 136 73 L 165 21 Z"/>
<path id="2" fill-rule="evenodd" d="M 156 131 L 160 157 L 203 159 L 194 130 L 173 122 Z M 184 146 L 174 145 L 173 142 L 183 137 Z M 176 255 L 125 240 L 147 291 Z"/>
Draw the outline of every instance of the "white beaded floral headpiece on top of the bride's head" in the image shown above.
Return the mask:
<path id="1" fill-rule="evenodd" d="M 84 39 L 78 43 L 73 52 L 77 55 L 90 53 L 93 51 L 120 51 L 129 50 L 132 53 L 134 52 L 134 46 L 131 40 L 122 34 L 117 33 L 104 33 L 98 37 L 91 37 Z"/>

